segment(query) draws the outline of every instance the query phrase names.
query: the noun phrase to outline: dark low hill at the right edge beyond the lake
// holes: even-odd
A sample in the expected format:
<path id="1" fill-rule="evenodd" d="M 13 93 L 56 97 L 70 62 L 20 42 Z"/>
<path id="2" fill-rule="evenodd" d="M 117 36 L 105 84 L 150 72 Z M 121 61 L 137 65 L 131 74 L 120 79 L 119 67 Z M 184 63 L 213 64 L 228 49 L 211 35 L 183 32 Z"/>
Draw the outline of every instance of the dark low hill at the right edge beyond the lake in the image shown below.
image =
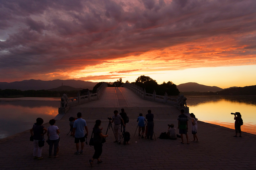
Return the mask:
<path id="1" fill-rule="evenodd" d="M 256 85 L 254 86 L 245 86 L 238 88 L 229 88 L 219 92 L 216 92 L 218 95 L 256 95 Z"/>

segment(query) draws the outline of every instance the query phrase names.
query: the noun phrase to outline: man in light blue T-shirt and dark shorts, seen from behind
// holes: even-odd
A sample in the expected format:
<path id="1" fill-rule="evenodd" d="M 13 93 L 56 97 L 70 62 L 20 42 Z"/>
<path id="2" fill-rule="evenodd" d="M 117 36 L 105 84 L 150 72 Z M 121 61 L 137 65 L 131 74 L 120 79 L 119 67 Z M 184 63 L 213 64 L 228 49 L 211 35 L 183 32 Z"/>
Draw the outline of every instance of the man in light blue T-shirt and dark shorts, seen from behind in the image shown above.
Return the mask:
<path id="1" fill-rule="evenodd" d="M 86 134 L 85 134 L 85 130 Z M 82 119 L 82 113 L 77 113 L 77 119 L 74 122 L 73 125 L 73 137 L 75 137 L 75 143 L 76 143 L 76 152 L 75 154 L 83 154 L 83 146 L 85 145 L 83 142 L 85 142 L 85 137 L 88 136 L 88 128 L 86 125 L 86 121 Z M 81 151 L 79 152 L 79 141 L 81 142 Z"/>

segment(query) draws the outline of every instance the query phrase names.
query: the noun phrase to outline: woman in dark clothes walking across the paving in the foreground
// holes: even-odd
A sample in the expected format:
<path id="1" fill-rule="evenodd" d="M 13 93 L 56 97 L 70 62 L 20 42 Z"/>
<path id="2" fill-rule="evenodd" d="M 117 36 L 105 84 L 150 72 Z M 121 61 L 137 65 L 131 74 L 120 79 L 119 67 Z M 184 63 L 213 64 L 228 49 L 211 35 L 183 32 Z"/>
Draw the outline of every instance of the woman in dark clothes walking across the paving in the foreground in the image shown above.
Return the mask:
<path id="1" fill-rule="evenodd" d="M 99 128 L 99 126 L 101 126 L 101 120 L 96 120 L 95 121 L 95 125 L 94 125 L 94 128 L 92 130 L 92 133 L 93 133 L 93 143 L 94 143 L 94 154 L 92 156 L 92 159 L 89 159 L 89 163 L 90 165 L 92 166 L 92 163 L 93 163 L 93 160 L 94 159 L 97 159 L 98 160 L 98 164 L 99 163 L 102 163 L 102 160 L 99 159 L 99 157 L 101 156 L 101 153 L 102 153 L 102 138 L 103 137 L 108 137 L 108 134 L 107 135 L 103 135 L 101 130 L 103 128 Z"/>

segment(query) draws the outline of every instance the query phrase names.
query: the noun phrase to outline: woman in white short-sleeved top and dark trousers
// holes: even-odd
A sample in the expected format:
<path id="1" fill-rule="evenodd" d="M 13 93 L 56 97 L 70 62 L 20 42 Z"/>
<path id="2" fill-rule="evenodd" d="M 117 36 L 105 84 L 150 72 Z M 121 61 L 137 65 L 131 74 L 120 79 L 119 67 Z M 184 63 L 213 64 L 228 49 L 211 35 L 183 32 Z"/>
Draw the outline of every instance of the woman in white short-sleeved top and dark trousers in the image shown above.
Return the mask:
<path id="1" fill-rule="evenodd" d="M 49 121 L 51 126 L 49 126 L 48 128 L 47 136 L 49 137 L 49 157 L 52 156 L 52 147 L 54 145 L 54 157 L 56 158 L 56 157 L 59 157 L 59 155 L 57 154 L 57 148 L 60 141 L 60 138 L 59 138 L 60 130 L 58 126 L 55 126 L 55 122 L 56 122 L 55 119 L 51 119 Z"/>

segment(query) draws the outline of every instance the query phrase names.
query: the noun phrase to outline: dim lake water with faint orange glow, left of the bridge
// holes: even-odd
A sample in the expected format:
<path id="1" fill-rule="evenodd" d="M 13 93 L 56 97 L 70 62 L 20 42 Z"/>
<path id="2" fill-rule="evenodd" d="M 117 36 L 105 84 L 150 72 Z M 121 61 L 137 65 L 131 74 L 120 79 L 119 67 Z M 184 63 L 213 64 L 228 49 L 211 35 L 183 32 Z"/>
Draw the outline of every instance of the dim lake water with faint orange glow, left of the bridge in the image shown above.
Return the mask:
<path id="1" fill-rule="evenodd" d="M 17 100 L 18 99 L 18 100 Z M 0 139 L 31 129 L 36 118 L 49 122 L 58 114 L 59 101 L 43 98 L 33 101 L 31 98 L 20 100 L 0 99 Z"/>

